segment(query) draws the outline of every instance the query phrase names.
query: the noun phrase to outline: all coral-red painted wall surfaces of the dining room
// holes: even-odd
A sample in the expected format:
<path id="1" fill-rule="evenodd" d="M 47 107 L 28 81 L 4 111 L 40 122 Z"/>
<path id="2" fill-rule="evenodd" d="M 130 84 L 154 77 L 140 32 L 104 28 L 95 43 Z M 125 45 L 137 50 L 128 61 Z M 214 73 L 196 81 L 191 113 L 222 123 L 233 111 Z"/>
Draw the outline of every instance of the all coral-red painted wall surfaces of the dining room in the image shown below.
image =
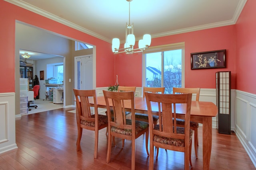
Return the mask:
<path id="1" fill-rule="evenodd" d="M 185 42 L 185 87 L 215 88 L 215 72 L 231 71 L 232 89 L 256 94 L 256 1 L 248 0 L 236 25 L 152 39 L 151 46 Z M 0 93 L 15 92 L 15 20 L 96 45 L 96 87 L 142 86 L 142 54 L 113 55 L 111 44 L 0 0 Z M 227 68 L 190 70 L 190 53 L 227 50 Z M 5 57 L 8 56 L 8 57 Z M 3 58 L 4 57 L 4 58 Z"/>

